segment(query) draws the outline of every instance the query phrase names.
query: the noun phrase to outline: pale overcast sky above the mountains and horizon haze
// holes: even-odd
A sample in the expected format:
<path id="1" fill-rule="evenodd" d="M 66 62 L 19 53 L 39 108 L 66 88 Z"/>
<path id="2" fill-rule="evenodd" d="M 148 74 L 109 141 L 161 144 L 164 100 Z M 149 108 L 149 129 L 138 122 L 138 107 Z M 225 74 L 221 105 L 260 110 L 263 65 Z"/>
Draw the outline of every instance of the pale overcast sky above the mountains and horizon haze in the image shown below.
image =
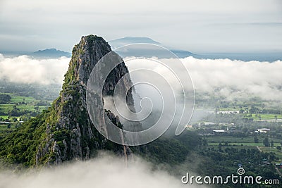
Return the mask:
<path id="1" fill-rule="evenodd" d="M 203 52 L 282 51 L 282 1 L 0 0 L 0 51 L 71 51 L 82 35 Z"/>

